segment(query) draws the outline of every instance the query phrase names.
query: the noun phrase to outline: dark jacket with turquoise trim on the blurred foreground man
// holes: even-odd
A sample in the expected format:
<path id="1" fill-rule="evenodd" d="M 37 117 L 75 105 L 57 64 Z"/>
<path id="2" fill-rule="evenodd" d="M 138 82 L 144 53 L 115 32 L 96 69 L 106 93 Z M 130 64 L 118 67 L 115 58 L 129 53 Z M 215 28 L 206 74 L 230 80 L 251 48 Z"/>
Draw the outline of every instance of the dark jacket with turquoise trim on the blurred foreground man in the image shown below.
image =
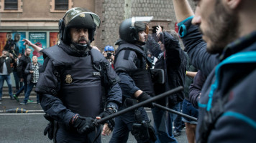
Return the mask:
<path id="1" fill-rule="evenodd" d="M 191 20 L 179 23 L 187 31 L 183 43 L 192 64 L 207 75 L 198 101 L 196 142 L 255 142 L 256 31 L 213 55 Z"/>

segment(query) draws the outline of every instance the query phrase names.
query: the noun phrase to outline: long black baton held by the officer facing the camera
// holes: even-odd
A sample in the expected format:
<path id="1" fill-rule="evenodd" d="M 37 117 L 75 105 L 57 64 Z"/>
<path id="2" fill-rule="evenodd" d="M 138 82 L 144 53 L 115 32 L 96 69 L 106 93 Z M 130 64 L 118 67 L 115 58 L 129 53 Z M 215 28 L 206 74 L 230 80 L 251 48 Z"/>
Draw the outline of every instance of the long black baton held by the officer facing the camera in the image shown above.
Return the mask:
<path id="1" fill-rule="evenodd" d="M 111 114 L 111 115 L 109 115 L 109 116 L 107 116 L 107 117 L 104 117 L 104 118 L 102 118 L 102 119 L 98 119 L 98 120 L 96 120 L 96 121 L 94 122 L 94 124 L 98 125 L 98 124 L 104 123 L 104 122 L 106 122 L 106 121 L 109 120 L 109 119 L 112 119 L 112 118 L 114 118 L 114 117 L 118 117 L 118 116 L 121 115 L 121 114 L 124 114 L 124 113 L 126 113 L 126 112 L 132 111 L 133 109 L 136 109 L 136 108 L 138 108 L 138 107 L 142 107 L 142 106 L 144 106 L 145 104 L 149 104 L 149 103 L 151 103 L 151 102 L 155 102 L 155 101 L 158 100 L 158 99 L 162 99 L 162 98 L 168 97 L 168 96 L 170 96 L 170 94 L 174 94 L 174 93 L 176 93 L 176 92 L 180 92 L 181 90 L 183 90 L 183 87 L 181 87 L 181 86 L 180 86 L 180 87 L 176 87 L 175 89 L 171 89 L 171 90 L 169 90 L 168 92 L 164 92 L 163 94 L 159 94 L 159 95 L 157 95 L 157 96 L 155 96 L 155 97 L 152 97 L 152 98 L 150 98 L 150 99 L 147 99 L 147 100 L 145 100 L 144 102 L 140 102 L 140 103 L 138 103 L 138 104 L 134 104 L 134 105 L 132 105 L 131 107 L 128 107 L 127 109 L 123 109 L 123 110 L 121 110 L 121 111 L 119 111 L 119 112 L 116 112 L 116 113 L 114 113 L 114 114 Z"/>

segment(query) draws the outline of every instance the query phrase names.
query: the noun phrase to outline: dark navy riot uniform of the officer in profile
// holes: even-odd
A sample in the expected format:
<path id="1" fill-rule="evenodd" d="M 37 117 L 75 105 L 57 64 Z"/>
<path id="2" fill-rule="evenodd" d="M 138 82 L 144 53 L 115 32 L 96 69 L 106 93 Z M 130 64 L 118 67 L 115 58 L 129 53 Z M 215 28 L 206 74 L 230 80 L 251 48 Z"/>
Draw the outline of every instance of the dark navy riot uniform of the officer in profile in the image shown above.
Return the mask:
<path id="1" fill-rule="evenodd" d="M 119 48 L 116 51 L 115 71 L 120 77 L 123 102 L 119 110 L 125 109 L 127 99 L 134 98 L 134 92 L 142 90 L 154 96 L 149 69 L 147 69 L 147 56 L 142 46 L 119 41 Z M 149 68 L 149 67 L 148 67 Z M 141 112 L 142 120 L 148 121 L 147 113 L 143 107 L 137 109 Z M 132 131 L 132 124 L 139 122 L 134 117 L 134 111 L 116 117 L 116 126 L 110 142 L 127 142 L 129 132 Z M 140 141 L 138 141 L 140 142 Z M 145 141 L 147 142 L 147 141 Z"/>

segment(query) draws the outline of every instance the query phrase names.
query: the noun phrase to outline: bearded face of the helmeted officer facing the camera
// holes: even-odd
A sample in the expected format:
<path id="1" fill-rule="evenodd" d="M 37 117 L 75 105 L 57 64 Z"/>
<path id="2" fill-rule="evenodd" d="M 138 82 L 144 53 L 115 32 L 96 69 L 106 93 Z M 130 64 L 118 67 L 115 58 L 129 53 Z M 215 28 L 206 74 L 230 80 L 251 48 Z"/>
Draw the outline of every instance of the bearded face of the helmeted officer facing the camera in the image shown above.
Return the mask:
<path id="1" fill-rule="evenodd" d="M 70 36 L 73 43 L 88 44 L 88 29 L 70 29 Z"/>

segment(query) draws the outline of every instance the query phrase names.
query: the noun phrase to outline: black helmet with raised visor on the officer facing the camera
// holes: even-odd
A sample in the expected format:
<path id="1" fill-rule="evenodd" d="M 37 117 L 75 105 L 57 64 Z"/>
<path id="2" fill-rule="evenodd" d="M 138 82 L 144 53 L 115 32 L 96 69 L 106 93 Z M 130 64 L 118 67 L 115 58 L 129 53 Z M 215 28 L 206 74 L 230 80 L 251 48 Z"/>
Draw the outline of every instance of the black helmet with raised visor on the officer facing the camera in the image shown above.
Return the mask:
<path id="1" fill-rule="evenodd" d="M 101 20 L 98 15 L 87 9 L 75 7 L 68 10 L 63 16 L 63 19 L 59 21 L 60 40 L 66 44 L 70 44 L 69 29 L 74 27 L 88 29 L 88 39 L 91 42 L 94 40 L 93 36 L 96 26 L 99 28 L 100 24 Z"/>

